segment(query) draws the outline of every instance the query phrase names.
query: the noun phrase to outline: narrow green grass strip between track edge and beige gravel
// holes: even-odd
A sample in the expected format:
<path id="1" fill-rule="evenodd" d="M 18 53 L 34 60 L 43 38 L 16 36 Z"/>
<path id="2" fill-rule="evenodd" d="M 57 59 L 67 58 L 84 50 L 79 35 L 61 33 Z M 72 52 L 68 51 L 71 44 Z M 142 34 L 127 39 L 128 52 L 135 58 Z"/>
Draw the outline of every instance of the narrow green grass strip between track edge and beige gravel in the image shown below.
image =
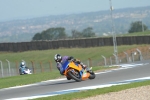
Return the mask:
<path id="1" fill-rule="evenodd" d="M 111 86 L 105 88 L 98 88 L 88 91 L 80 91 L 76 93 L 68 93 L 64 95 L 50 96 L 44 98 L 37 98 L 36 100 L 75 100 L 75 99 L 83 99 L 91 96 L 96 96 L 100 94 L 110 93 L 110 92 L 118 92 L 125 89 L 136 88 L 140 86 L 150 85 L 150 80 L 143 82 L 135 82 L 125 85 Z"/>

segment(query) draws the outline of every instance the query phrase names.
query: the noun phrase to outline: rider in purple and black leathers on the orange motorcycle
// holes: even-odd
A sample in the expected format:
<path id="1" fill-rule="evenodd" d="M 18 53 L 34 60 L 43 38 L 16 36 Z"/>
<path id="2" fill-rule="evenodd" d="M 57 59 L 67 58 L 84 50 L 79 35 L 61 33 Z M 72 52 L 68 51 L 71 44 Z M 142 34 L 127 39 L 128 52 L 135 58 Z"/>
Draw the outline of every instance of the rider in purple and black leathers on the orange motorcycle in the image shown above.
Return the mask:
<path id="1" fill-rule="evenodd" d="M 55 60 L 56 63 L 57 63 L 57 68 L 58 68 L 58 70 L 60 71 L 60 74 L 61 74 L 61 75 L 63 75 L 63 73 L 64 73 L 64 71 L 65 71 L 65 70 L 63 69 L 62 65 L 64 64 L 64 62 L 65 62 L 66 60 L 73 60 L 75 63 L 80 64 L 80 65 L 82 66 L 82 68 L 84 68 L 84 69 L 87 68 L 87 66 L 84 65 L 79 59 L 74 59 L 72 56 L 63 56 L 63 57 L 62 57 L 60 54 L 55 54 L 54 60 Z M 68 77 L 67 77 L 67 79 L 70 80 Z"/>

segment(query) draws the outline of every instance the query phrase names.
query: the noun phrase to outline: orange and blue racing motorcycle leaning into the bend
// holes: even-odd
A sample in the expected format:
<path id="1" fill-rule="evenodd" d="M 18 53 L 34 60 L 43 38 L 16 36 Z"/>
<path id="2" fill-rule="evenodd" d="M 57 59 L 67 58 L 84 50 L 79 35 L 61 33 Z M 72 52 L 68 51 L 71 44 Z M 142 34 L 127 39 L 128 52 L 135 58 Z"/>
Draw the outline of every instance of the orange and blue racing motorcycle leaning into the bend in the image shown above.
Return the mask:
<path id="1" fill-rule="evenodd" d="M 74 79 L 75 81 L 80 82 L 95 78 L 95 73 L 92 71 L 92 68 L 89 70 L 83 69 L 80 64 L 73 61 L 66 61 L 62 67 L 65 69 L 64 75 L 68 80 Z"/>

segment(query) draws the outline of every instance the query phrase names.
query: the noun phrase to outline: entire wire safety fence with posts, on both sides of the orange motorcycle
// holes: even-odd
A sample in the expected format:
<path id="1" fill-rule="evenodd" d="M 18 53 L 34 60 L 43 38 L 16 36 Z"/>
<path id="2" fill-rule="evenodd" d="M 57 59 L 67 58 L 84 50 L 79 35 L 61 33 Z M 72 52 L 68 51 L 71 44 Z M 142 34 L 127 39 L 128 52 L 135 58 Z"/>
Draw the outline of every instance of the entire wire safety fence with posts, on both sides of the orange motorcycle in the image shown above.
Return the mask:
<path id="1" fill-rule="evenodd" d="M 88 58 L 86 61 L 82 61 L 88 67 L 95 66 L 112 66 L 119 65 L 122 63 L 132 63 L 135 61 L 149 60 L 150 59 L 150 47 L 145 49 L 135 48 L 129 51 L 118 54 L 118 64 L 116 62 L 116 56 L 112 55 L 109 58 L 106 58 L 105 55 L 102 55 L 101 60 Z M 6 59 L 6 61 L 0 61 L 0 78 L 10 77 L 19 75 L 19 65 L 18 61 L 12 62 Z M 27 61 L 27 67 L 32 70 L 32 73 L 43 73 L 51 72 L 57 70 L 56 63 L 47 61 L 47 62 L 36 62 L 36 61 Z"/>

